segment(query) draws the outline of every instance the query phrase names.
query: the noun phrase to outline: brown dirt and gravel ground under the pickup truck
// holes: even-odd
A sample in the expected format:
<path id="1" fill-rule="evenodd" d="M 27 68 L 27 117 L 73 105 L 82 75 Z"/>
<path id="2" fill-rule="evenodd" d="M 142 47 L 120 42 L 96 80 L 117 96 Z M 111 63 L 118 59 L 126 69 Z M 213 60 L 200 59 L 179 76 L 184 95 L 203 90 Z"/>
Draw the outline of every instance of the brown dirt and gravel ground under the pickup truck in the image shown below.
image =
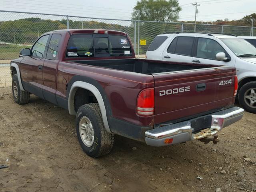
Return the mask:
<path id="1" fill-rule="evenodd" d="M 256 192 L 255 114 L 222 130 L 216 145 L 156 148 L 116 136 L 112 152 L 96 159 L 81 150 L 74 120 L 33 95 L 18 105 L 10 87 L 0 88 L 0 164 L 9 166 L 0 169 L 0 191 Z"/>

